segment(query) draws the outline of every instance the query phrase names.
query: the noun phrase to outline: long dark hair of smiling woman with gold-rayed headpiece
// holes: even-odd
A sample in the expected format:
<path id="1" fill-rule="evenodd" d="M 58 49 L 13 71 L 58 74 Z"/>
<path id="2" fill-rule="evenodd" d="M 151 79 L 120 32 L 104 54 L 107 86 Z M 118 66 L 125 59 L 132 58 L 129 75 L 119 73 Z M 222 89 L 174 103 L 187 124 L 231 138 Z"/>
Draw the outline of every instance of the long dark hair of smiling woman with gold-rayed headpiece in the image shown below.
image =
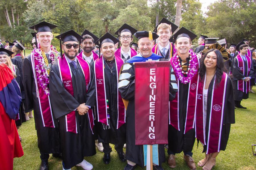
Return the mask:
<path id="1" fill-rule="evenodd" d="M 215 75 L 216 75 L 215 83 L 218 86 L 220 81 L 221 81 L 221 77 L 222 77 L 223 71 L 227 72 L 227 69 L 226 69 L 226 67 L 224 65 L 222 54 L 217 49 L 210 49 L 208 52 L 205 53 L 205 55 L 201 59 L 201 61 L 200 61 L 200 68 L 199 68 L 200 80 L 202 81 L 204 76 L 205 76 L 205 74 L 206 74 L 206 67 L 205 67 L 204 61 L 205 61 L 205 58 L 206 58 L 206 56 L 207 56 L 207 54 L 209 52 L 215 52 L 215 54 L 217 56 L 217 68 L 216 68 L 216 73 L 215 73 Z"/>

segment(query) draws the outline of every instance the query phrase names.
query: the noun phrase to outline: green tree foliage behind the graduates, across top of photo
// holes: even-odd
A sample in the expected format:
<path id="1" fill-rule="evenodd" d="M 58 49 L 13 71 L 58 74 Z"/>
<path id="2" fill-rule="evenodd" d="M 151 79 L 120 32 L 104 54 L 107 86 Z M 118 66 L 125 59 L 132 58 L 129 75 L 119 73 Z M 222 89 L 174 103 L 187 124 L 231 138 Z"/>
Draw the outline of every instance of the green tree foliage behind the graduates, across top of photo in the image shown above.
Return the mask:
<path id="1" fill-rule="evenodd" d="M 28 27 L 43 20 L 58 26 L 54 35 L 88 29 L 100 37 L 115 33 L 124 23 L 138 30 L 153 30 L 157 13 L 159 21 L 163 17 L 175 21 L 176 4 L 177 0 L 1 0 L 0 36 L 3 41 L 16 39 L 30 48 L 33 30 Z M 198 0 L 182 1 L 180 27 L 197 35 L 226 38 L 228 44 L 245 38 L 251 47 L 256 45 L 255 0 L 219 0 L 211 3 L 206 13 L 201 5 Z M 58 43 L 53 40 L 53 45 Z"/>

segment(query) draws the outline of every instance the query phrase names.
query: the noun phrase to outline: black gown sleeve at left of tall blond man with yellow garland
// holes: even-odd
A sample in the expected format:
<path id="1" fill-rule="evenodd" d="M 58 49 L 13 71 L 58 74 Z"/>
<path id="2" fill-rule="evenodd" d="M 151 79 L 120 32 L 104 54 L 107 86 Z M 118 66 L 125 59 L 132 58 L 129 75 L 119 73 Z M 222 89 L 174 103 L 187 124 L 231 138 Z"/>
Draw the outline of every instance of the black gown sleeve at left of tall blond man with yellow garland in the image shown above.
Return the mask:
<path id="1" fill-rule="evenodd" d="M 24 91 L 25 91 L 25 110 L 29 112 L 33 110 L 33 71 L 32 71 L 32 63 L 30 56 L 24 58 L 23 62 L 23 76 L 24 76 Z"/>

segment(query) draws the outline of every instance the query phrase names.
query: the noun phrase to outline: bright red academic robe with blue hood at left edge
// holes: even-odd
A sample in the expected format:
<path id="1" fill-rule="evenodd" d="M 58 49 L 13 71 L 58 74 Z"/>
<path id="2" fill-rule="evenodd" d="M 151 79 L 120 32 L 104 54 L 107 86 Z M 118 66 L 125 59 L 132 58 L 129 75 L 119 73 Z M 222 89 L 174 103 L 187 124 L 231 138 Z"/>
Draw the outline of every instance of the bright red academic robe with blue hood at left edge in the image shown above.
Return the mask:
<path id="1" fill-rule="evenodd" d="M 11 69 L 0 64 L 0 166 L 12 170 L 13 158 L 24 155 L 14 118 L 19 112 L 21 94 Z"/>

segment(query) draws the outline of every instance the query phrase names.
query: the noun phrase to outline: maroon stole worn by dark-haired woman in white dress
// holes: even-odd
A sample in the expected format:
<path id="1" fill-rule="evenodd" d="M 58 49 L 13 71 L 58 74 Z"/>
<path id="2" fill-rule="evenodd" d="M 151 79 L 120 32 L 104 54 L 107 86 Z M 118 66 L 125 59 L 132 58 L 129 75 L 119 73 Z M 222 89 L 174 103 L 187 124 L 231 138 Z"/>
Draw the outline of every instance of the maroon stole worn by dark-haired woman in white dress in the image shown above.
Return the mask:
<path id="1" fill-rule="evenodd" d="M 212 96 L 210 105 L 210 119 L 208 126 L 208 139 L 206 142 L 205 118 L 204 118 L 204 93 L 205 81 L 199 81 L 197 90 L 197 104 L 195 114 L 195 133 L 196 138 L 204 145 L 207 145 L 206 154 L 220 152 L 220 137 L 222 130 L 223 111 L 225 104 L 225 94 L 228 75 L 223 72 L 220 84 L 215 88 L 215 78 L 212 86 Z M 207 98 L 208 98 L 207 97 Z"/>

